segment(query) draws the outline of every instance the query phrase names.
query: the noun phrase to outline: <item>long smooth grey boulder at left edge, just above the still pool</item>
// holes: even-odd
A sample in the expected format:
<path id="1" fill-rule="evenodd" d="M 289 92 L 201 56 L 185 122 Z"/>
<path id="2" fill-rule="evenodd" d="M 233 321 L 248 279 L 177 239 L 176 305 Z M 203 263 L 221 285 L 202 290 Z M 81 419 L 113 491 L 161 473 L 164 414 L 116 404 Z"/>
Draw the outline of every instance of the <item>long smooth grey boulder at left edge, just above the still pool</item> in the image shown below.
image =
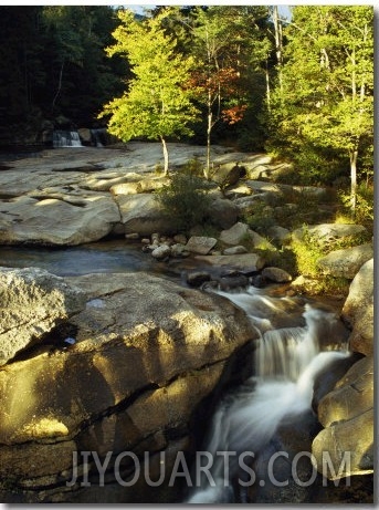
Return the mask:
<path id="1" fill-rule="evenodd" d="M 1 204 L 0 242 L 81 244 L 106 237 L 117 222 L 118 208 L 109 195 L 21 196 Z"/>

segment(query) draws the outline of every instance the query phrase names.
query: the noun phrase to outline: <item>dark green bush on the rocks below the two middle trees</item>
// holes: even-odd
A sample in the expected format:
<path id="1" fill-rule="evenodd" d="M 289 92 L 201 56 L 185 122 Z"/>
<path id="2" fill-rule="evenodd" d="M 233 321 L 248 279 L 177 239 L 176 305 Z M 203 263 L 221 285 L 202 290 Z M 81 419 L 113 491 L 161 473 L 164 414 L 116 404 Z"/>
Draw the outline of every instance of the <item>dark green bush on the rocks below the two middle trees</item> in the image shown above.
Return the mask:
<path id="1" fill-rule="evenodd" d="M 208 191 L 210 185 L 203 178 L 191 173 L 177 173 L 170 176 L 170 183 L 156 194 L 166 216 L 176 223 L 178 231 L 188 232 L 202 223 L 211 202 Z"/>

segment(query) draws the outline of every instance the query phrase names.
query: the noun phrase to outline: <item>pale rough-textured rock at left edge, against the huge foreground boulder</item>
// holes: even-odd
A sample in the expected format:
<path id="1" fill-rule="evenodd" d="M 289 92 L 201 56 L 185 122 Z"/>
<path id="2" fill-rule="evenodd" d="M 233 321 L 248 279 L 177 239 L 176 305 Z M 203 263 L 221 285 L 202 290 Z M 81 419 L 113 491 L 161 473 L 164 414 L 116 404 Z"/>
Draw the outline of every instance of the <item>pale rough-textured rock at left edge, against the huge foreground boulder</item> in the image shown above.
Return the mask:
<path id="1" fill-rule="evenodd" d="M 85 306 L 85 295 L 38 268 L 0 268 L 0 365 Z"/>

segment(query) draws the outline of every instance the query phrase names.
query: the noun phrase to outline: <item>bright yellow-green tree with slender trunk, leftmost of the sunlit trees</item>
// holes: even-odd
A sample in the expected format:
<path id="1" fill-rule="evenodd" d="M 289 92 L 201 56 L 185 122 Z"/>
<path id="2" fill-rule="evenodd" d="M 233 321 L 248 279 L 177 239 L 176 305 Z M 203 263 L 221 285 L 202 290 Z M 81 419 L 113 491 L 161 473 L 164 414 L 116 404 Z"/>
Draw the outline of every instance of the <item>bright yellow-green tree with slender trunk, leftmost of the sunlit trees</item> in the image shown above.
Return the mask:
<path id="1" fill-rule="evenodd" d="M 107 52 L 127 56 L 134 77 L 123 97 L 105 105 L 101 116 L 110 115 L 108 129 L 124 142 L 134 136 L 160 139 L 168 174 L 166 139 L 190 135 L 188 124 L 197 115 L 188 87 L 193 61 L 177 52 L 176 41 L 165 33 L 165 9 L 143 21 L 129 10 L 118 17 L 122 24 L 113 33 L 117 42 Z"/>

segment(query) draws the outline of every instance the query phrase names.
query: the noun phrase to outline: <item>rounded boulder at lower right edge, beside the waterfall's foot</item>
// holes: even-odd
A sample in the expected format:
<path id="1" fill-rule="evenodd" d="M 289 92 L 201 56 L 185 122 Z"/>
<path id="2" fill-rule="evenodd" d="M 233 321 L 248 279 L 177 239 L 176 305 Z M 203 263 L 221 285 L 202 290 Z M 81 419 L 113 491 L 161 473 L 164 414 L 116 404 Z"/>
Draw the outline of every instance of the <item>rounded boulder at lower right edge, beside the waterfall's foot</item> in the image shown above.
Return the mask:
<path id="1" fill-rule="evenodd" d="M 373 472 L 372 356 L 352 365 L 320 400 L 318 418 L 325 429 L 314 439 L 312 452 L 319 471 L 327 452 L 334 467 L 327 471 L 330 480 Z"/>

